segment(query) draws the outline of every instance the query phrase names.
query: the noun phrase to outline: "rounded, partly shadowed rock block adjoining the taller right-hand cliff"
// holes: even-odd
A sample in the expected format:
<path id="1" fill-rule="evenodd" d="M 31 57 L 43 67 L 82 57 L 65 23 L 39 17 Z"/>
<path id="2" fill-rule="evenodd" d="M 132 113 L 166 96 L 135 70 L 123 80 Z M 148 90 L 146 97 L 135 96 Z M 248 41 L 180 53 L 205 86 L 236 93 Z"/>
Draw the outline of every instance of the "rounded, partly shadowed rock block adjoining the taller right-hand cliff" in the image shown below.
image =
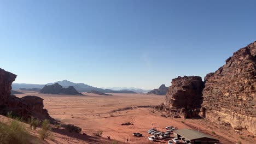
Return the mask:
<path id="1" fill-rule="evenodd" d="M 202 103 L 203 82 L 200 76 L 177 77 L 168 88 L 164 106 L 175 117 L 197 116 Z"/>

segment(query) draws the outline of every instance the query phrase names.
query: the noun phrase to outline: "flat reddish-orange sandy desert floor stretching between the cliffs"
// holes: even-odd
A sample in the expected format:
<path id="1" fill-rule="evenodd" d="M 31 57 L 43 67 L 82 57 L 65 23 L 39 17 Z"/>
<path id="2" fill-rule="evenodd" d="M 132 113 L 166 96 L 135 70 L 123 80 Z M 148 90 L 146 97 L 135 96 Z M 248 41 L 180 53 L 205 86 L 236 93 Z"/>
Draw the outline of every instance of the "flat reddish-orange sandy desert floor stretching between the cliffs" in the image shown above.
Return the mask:
<path id="1" fill-rule="evenodd" d="M 161 117 L 161 112 L 150 107 L 143 107 L 160 105 L 164 101 L 164 95 L 84 93 L 85 95 L 81 96 L 21 92 L 24 94 L 16 94 L 16 96 L 37 95 L 43 98 L 44 108 L 48 110 L 51 117 L 62 123 L 77 125 L 83 129 L 82 133 L 89 136 L 94 136 L 97 130 L 102 130 L 102 137 L 110 136 L 111 139 L 121 142 L 126 142 L 126 139 L 129 139 L 129 143 L 167 143 L 168 140 L 150 142 L 147 139 L 149 136 L 147 130 L 154 127 L 164 131 L 167 125 L 172 125 L 178 129 L 200 130 L 217 137 L 222 143 L 236 143 L 238 139 L 242 143 L 254 143 L 256 140 L 248 138 L 246 131 L 235 131 L 231 127 L 216 125 L 203 119 L 185 119 L 185 122 L 182 123 L 184 121 L 182 118 Z M 133 125 L 120 125 L 126 122 L 133 123 Z M 216 134 L 212 134 L 212 131 Z M 133 137 L 132 133 L 134 132 L 142 133 L 143 136 Z M 72 134 L 66 137 L 55 135 L 55 142 L 49 141 L 48 143 L 94 143 L 90 139 L 79 140 L 79 137 L 74 136 L 74 139 L 68 137 L 72 137 Z"/>

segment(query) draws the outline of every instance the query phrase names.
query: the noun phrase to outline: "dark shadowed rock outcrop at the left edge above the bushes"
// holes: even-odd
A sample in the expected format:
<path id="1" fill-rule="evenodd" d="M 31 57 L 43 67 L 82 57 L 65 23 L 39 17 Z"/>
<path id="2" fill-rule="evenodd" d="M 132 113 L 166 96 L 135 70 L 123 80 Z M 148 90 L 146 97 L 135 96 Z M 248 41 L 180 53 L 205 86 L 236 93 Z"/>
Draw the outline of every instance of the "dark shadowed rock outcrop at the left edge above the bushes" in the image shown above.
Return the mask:
<path id="1" fill-rule="evenodd" d="M 43 109 L 43 99 L 36 96 L 26 96 L 17 98 L 10 95 L 11 83 L 16 79 L 16 75 L 0 69 L 0 114 L 13 112 L 23 118 L 36 117 L 39 119 L 53 120 L 47 110 Z"/>

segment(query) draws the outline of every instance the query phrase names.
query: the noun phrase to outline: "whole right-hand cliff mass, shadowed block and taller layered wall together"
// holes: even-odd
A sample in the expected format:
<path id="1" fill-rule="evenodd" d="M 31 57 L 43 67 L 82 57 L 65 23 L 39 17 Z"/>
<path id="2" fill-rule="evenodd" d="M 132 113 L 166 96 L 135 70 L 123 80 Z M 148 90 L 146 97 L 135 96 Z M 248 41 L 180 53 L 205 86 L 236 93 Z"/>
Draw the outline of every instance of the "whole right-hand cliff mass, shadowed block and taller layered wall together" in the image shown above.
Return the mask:
<path id="1" fill-rule="evenodd" d="M 234 52 L 215 73 L 178 77 L 166 94 L 174 117 L 201 116 L 256 135 L 256 41 Z"/>

